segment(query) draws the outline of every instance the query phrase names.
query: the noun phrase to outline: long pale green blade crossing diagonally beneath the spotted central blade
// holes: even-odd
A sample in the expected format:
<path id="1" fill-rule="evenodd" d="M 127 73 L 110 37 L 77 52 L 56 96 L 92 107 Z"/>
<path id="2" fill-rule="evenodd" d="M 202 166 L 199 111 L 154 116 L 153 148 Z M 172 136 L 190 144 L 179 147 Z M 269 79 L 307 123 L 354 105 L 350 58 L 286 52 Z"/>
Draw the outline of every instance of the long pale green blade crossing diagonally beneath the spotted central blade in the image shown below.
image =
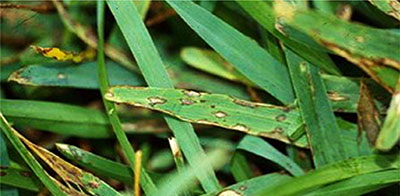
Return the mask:
<path id="1" fill-rule="evenodd" d="M 120 27 L 131 52 L 135 56 L 140 70 L 149 86 L 173 88 L 164 64 L 151 40 L 151 37 L 140 19 L 136 7 L 131 2 L 107 1 L 118 26 Z M 135 28 L 132 28 L 135 27 Z M 165 117 L 168 126 L 186 156 L 189 165 L 196 168 L 194 160 L 205 158 L 205 153 L 191 124 Z M 211 166 L 197 171 L 197 177 L 206 192 L 218 190 L 220 185 Z"/>

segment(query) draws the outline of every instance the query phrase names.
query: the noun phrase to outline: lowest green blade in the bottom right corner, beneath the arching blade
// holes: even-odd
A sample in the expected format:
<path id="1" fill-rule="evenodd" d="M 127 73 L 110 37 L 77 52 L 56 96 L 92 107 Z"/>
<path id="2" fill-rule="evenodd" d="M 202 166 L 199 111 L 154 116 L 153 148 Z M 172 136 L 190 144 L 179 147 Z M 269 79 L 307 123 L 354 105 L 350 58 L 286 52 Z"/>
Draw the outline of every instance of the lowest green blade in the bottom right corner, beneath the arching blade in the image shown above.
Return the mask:
<path id="1" fill-rule="evenodd" d="M 400 170 L 388 170 L 355 176 L 319 188 L 307 196 L 363 195 L 400 181 Z"/>

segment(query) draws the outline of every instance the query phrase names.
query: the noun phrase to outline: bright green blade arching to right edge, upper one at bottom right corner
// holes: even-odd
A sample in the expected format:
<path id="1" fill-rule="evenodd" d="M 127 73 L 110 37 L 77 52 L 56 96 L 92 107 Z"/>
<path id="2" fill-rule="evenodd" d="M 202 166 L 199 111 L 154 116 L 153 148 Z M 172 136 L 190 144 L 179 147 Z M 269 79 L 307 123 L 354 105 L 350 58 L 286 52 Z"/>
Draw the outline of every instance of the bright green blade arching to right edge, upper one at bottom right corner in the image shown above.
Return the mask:
<path id="1" fill-rule="evenodd" d="M 275 186 L 262 188 L 255 196 L 274 193 L 281 195 L 305 195 L 313 188 L 321 187 L 332 182 L 349 179 L 354 176 L 368 174 L 400 167 L 398 155 L 370 155 L 347 159 L 323 168 L 308 172 L 303 176 L 292 178 Z"/>

